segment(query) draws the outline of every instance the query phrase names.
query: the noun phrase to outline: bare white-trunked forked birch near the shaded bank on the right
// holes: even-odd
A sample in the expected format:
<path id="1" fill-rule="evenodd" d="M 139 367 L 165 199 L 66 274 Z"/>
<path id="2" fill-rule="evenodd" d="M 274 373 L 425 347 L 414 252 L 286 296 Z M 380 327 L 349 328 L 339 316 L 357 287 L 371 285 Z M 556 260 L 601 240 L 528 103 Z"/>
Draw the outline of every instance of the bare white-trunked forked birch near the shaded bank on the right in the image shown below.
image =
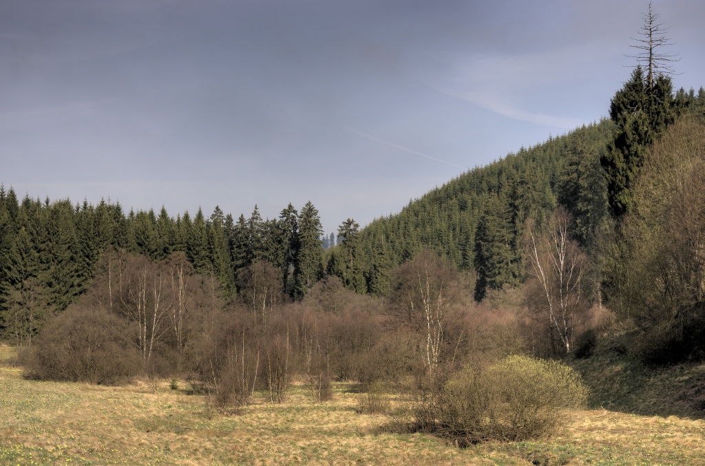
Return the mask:
<path id="1" fill-rule="evenodd" d="M 525 239 L 529 257 L 529 274 L 537 283 L 537 292 L 529 297 L 529 306 L 556 330 L 566 352 L 572 350 L 575 329 L 589 309 L 584 283 L 587 257 L 570 239 L 570 216 L 559 208 L 551 216 L 548 231 L 537 234 L 527 224 Z"/>

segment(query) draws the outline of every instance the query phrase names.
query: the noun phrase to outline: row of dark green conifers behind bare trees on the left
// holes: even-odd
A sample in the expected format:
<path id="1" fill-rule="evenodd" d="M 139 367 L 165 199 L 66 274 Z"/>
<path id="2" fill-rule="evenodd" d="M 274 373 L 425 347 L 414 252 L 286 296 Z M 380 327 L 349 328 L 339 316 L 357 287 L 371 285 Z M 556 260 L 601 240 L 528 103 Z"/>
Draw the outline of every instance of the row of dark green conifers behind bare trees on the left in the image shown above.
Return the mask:
<path id="1" fill-rule="evenodd" d="M 255 206 L 237 222 L 216 207 L 176 219 L 162 207 L 124 214 L 119 203 L 18 201 L 0 187 L 0 338 L 29 344 L 49 317 L 85 293 L 102 255 L 129 252 L 161 261 L 182 252 L 197 274 L 214 278 L 219 298 L 235 298 L 240 271 L 265 261 L 286 295 L 302 298 L 324 273 L 321 223 L 309 202 L 278 219 Z"/>

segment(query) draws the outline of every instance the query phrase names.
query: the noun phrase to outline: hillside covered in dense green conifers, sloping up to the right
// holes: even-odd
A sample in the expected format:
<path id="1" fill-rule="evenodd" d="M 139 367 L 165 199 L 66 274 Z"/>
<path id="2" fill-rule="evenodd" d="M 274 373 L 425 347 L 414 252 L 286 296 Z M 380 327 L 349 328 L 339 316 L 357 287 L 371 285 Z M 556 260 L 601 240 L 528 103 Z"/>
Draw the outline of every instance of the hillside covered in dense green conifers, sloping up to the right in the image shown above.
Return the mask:
<path id="1" fill-rule="evenodd" d="M 360 232 L 369 264 L 369 288 L 384 293 L 384 269 L 413 257 L 422 247 L 446 255 L 458 268 L 496 267 L 491 286 L 517 283 L 523 274 L 519 250 L 527 219 L 541 222 L 557 204 L 580 218 L 582 243 L 606 213 L 599 157 L 613 137 L 602 119 L 543 144 L 473 168 L 410 202 L 399 214 L 376 219 Z"/>

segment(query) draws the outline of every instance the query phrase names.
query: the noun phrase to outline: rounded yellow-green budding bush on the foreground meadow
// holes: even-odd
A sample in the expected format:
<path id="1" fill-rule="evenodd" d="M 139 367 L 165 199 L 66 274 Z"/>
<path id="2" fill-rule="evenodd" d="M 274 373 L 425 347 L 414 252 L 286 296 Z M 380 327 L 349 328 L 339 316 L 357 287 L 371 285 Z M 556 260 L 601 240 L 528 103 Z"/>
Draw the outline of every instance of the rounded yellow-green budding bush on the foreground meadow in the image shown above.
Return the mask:
<path id="1" fill-rule="evenodd" d="M 510 356 L 450 379 L 437 403 L 437 429 L 465 443 L 538 439 L 563 427 L 567 409 L 586 399 L 587 388 L 570 367 Z"/>

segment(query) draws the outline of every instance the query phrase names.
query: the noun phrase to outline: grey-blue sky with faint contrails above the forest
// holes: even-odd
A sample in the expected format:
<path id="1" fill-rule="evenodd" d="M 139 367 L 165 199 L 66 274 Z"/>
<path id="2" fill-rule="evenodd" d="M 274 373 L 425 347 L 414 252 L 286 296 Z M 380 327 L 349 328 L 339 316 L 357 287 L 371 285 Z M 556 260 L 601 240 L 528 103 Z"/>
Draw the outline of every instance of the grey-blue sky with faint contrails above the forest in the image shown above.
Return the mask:
<path id="1" fill-rule="evenodd" d="M 176 217 L 361 226 L 607 116 L 645 0 L 3 0 L 0 183 Z M 655 0 L 675 88 L 705 2 Z"/>

